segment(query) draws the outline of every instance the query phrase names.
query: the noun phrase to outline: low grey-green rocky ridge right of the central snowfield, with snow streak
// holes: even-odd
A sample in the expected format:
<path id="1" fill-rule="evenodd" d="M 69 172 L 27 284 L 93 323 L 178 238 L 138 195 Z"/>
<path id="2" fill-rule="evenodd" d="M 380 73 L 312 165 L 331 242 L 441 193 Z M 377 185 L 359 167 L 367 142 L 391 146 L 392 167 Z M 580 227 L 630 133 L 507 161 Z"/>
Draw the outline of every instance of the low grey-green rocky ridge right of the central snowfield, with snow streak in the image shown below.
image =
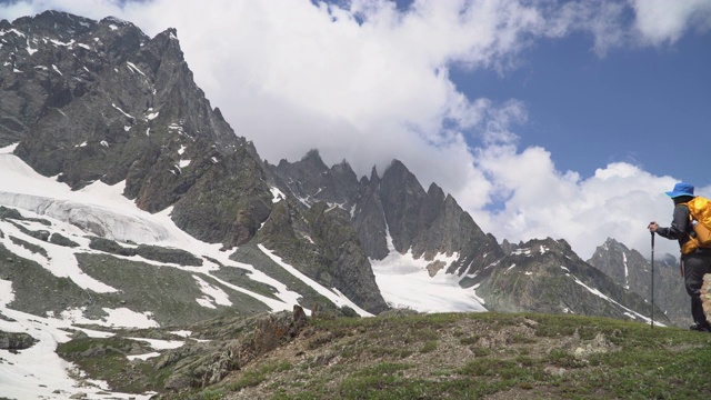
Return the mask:
<path id="1" fill-rule="evenodd" d="M 501 311 L 605 316 L 643 320 L 650 304 L 581 260 L 564 240 L 531 240 L 485 268 L 477 293 Z M 659 308 L 655 321 L 671 323 Z"/>

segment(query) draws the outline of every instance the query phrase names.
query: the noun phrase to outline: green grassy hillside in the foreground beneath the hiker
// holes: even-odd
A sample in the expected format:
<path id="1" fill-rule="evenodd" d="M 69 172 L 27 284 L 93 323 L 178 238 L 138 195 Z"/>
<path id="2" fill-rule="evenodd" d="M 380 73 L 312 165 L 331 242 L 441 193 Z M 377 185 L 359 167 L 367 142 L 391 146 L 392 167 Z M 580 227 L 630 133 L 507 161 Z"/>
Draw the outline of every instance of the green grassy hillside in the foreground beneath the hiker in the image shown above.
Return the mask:
<path id="1" fill-rule="evenodd" d="M 309 321 L 294 340 L 178 398 L 708 399 L 709 381 L 711 334 L 604 318 L 445 313 Z"/>

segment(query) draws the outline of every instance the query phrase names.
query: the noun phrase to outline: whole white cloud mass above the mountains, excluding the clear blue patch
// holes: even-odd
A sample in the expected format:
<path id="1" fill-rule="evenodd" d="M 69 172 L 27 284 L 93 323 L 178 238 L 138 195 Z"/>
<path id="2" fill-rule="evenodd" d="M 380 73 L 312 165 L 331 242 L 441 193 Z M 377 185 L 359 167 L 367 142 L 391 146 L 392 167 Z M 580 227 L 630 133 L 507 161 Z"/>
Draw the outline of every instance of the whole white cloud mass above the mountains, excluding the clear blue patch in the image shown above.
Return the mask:
<path id="1" fill-rule="evenodd" d="M 414 1 L 404 11 L 384 0 L 36 0 L 0 4 L 0 18 L 46 9 L 116 16 L 150 36 L 177 28 L 197 83 L 271 162 L 318 148 L 327 163 L 369 174 L 397 158 L 500 240 L 564 238 L 583 258 L 607 237 L 648 248 L 647 223 L 671 218 L 663 191 L 674 179 L 628 163 L 587 179 L 559 171 L 545 149 L 518 147 L 525 104 L 467 97 L 449 69 L 505 74 L 537 42 L 573 32 L 603 56 L 709 29 L 702 0 Z"/>

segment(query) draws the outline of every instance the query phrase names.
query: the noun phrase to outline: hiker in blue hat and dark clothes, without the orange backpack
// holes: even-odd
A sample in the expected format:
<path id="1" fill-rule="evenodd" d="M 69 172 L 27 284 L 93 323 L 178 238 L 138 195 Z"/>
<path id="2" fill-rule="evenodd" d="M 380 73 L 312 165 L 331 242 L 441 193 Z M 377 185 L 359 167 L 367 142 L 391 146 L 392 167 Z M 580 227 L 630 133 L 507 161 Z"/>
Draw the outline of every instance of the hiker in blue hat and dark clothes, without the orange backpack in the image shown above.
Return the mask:
<path id="1" fill-rule="evenodd" d="M 711 273 L 711 248 L 699 247 L 697 241 L 692 239 L 694 231 L 687 203 L 694 198 L 693 186 L 680 182 L 674 184 L 672 191 L 665 193 L 674 201 L 674 217 L 671 227 L 662 228 L 657 222 L 652 222 L 649 224 L 649 230 L 663 238 L 679 240 L 684 284 L 687 292 L 691 296 L 693 324 L 689 329 L 711 332 L 711 324 L 707 321 L 707 316 L 701 307 L 703 274 Z"/>

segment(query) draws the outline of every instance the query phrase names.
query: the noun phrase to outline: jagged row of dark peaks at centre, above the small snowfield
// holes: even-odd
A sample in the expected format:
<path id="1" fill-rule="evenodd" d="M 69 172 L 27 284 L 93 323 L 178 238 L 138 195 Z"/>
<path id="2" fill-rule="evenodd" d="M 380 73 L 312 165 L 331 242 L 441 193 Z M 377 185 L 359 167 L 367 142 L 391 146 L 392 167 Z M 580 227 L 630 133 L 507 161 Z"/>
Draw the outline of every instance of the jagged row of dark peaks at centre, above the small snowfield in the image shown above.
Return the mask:
<path id="1" fill-rule="evenodd" d="M 351 222 L 371 259 L 388 256 L 388 234 L 395 251 L 411 250 L 415 258 L 459 253 L 458 261 L 447 266 L 450 273 L 473 272 L 503 256 L 495 238 L 483 233 L 451 196 L 437 184 L 425 192 L 400 161 L 393 161 L 382 178 L 373 168 L 370 179 L 360 182 L 348 164 L 329 170 L 313 151 L 296 163 L 282 161 L 273 171 L 302 201 L 311 204 L 329 199 L 350 210 Z M 489 254 L 487 260 L 484 254 Z"/>

